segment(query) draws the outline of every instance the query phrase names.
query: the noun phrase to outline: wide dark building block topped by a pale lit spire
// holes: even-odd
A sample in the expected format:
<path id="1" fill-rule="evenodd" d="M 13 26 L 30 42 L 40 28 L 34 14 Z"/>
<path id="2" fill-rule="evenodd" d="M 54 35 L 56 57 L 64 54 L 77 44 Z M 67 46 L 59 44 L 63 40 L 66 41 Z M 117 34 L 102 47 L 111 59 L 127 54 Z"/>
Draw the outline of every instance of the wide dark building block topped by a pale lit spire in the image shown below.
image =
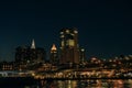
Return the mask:
<path id="1" fill-rule="evenodd" d="M 45 61 L 45 51 L 35 47 L 34 40 L 31 46 L 19 46 L 15 48 L 15 62 L 21 64 L 40 63 Z"/>

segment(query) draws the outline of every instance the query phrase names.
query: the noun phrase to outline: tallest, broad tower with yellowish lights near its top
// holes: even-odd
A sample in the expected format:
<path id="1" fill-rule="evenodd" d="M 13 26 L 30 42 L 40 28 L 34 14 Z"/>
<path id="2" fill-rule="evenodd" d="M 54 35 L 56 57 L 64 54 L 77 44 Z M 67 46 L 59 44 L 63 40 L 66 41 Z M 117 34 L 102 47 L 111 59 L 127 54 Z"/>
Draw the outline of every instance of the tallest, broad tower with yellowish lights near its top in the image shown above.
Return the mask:
<path id="1" fill-rule="evenodd" d="M 61 64 L 79 64 L 77 29 L 61 30 Z"/>

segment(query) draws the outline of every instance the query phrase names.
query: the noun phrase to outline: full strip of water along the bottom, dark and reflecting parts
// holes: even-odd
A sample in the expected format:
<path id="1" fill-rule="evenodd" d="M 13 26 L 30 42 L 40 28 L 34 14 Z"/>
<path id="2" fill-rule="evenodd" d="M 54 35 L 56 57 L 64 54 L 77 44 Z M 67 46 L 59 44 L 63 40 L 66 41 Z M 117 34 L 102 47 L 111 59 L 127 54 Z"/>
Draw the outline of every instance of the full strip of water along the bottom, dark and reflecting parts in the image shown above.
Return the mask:
<path id="1" fill-rule="evenodd" d="M 2 79 L 3 80 L 3 79 Z M 6 79 L 0 88 L 132 88 L 132 79 L 33 80 Z"/>

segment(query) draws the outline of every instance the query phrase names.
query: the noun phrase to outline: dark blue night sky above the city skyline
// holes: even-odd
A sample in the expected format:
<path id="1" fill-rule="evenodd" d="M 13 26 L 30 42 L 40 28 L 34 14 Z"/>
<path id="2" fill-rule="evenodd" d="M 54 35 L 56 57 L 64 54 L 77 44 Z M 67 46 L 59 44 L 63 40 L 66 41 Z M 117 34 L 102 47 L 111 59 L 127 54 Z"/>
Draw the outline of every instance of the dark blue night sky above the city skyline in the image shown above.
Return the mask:
<path id="1" fill-rule="evenodd" d="M 131 0 L 130 0 L 131 1 Z M 1 0 L 0 61 L 15 47 L 59 47 L 59 30 L 77 28 L 87 58 L 132 54 L 132 6 L 127 0 Z"/>

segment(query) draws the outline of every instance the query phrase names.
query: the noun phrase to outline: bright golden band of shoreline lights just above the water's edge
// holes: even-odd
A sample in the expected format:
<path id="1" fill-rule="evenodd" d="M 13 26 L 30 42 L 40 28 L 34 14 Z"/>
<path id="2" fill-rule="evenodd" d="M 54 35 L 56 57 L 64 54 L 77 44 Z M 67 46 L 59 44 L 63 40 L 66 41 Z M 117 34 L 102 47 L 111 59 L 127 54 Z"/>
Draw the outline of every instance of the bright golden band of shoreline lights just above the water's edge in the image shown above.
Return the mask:
<path id="1" fill-rule="evenodd" d="M 102 77 L 113 77 L 116 75 L 114 69 L 95 69 L 95 68 L 86 68 L 86 69 L 63 69 L 58 72 L 51 72 L 51 73 L 36 73 L 35 78 L 40 79 L 77 79 L 77 78 L 102 78 Z"/>

